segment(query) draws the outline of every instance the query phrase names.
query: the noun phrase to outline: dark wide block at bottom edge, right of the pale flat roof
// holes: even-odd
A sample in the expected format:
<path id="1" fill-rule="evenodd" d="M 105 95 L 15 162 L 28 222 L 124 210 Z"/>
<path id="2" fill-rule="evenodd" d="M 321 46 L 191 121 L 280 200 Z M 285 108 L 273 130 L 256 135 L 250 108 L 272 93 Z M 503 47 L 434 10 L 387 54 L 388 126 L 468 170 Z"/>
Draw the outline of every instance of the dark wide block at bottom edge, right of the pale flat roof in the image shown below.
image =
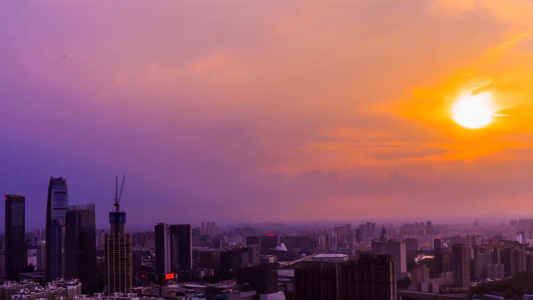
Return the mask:
<path id="1" fill-rule="evenodd" d="M 360 254 L 341 266 L 340 299 L 395 300 L 395 262 L 390 255 Z"/>

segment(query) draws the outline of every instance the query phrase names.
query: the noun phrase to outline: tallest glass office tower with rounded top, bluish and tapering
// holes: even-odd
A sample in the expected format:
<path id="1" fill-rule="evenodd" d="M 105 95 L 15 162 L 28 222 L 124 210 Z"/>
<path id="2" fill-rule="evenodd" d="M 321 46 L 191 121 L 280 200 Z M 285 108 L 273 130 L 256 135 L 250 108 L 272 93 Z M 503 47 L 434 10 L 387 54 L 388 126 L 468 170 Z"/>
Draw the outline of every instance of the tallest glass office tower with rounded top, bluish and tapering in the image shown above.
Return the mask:
<path id="1" fill-rule="evenodd" d="M 50 177 L 46 208 L 46 280 L 65 274 L 65 216 L 68 207 L 67 181 Z"/>

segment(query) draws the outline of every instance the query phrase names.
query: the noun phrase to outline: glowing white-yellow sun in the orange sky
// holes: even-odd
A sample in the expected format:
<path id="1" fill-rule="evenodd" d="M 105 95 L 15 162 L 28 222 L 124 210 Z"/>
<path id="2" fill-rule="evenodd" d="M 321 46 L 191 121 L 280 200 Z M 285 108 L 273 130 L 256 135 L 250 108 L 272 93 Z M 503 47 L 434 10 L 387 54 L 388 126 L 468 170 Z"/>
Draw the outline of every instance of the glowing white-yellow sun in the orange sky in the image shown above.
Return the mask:
<path id="1" fill-rule="evenodd" d="M 475 95 L 463 94 L 457 98 L 451 109 L 452 119 L 470 129 L 482 128 L 492 123 L 495 112 L 492 95 L 488 91 Z"/>

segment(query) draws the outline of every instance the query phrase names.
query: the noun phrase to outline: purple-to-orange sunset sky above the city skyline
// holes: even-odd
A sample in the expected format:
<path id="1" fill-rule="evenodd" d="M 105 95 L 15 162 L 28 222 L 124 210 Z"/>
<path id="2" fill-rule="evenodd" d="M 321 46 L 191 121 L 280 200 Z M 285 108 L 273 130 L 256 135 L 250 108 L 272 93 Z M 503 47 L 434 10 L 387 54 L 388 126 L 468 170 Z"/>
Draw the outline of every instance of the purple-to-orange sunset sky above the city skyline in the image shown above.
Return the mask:
<path id="1" fill-rule="evenodd" d="M 27 228 L 50 176 L 100 227 L 122 175 L 132 226 L 533 217 L 532 92 L 529 0 L 1 1 L 0 191 Z"/>

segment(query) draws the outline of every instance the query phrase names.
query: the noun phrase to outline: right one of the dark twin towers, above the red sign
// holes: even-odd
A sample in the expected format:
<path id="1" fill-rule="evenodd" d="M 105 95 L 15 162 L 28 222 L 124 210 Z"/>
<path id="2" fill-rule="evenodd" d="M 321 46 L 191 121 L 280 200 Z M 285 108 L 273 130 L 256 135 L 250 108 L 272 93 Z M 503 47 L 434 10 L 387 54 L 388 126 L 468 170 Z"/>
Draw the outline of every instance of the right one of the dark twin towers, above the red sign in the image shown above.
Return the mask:
<path id="1" fill-rule="evenodd" d="M 214 224 L 214 222 L 213 222 Z M 190 224 L 170 225 L 171 271 L 192 270 L 192 228 Z"/>

